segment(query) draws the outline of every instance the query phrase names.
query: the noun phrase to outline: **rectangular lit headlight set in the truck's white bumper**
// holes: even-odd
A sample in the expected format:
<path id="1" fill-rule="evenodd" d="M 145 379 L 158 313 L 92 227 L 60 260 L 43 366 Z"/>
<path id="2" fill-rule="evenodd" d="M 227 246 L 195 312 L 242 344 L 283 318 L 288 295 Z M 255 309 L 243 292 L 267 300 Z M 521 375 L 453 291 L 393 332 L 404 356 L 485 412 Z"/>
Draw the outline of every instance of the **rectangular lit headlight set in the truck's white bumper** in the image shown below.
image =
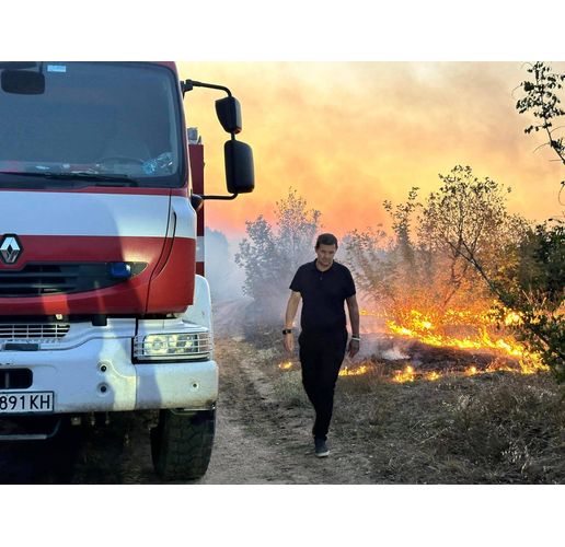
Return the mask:
<path id="1" fill-rule="evenodd" d="M 209 359 L 210 351 L 208 331 L 145 335 L 134 341 L 134 359 L 138 361 Z"/>

